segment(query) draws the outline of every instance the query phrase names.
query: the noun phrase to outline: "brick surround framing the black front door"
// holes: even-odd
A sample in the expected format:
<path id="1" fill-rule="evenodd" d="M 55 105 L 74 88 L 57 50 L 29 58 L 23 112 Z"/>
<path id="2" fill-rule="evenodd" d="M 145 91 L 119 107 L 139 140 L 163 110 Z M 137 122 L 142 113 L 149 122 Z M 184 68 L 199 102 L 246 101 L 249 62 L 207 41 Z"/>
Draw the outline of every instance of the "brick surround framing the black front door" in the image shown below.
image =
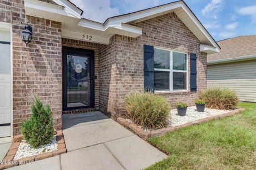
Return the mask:
<path id="1" fill-rule="evenodd" d="M 83 42 L 80 40 L 66 39 L 62 38 L 62 46 L 63 47 L 74 47 L 74 48 L 82 48 L 82 49 L 90 49 L 94 51 L 94 74 L 97 76 L 95 79 L 95 107 L 90 109 L 76 109 L 76 110 L 68 110 L 63 111 L 63 114 L 78 114 L 89 111 L 99 110 L 99 45 L 97 43 L 91 42 Z"/>

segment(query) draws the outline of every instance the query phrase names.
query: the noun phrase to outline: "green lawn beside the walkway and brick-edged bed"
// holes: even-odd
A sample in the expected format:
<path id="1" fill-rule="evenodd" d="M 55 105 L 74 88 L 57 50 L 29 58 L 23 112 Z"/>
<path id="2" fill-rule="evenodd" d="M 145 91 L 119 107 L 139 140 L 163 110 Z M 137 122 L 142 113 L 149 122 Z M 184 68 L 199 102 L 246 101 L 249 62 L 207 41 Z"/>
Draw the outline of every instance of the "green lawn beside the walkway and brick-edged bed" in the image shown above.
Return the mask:
<path id="1" fill-rule="evenodd" d="M 221 120 L 150 138 L 169 157 L 148 169 L 256 169 L 256 104 Z"/>

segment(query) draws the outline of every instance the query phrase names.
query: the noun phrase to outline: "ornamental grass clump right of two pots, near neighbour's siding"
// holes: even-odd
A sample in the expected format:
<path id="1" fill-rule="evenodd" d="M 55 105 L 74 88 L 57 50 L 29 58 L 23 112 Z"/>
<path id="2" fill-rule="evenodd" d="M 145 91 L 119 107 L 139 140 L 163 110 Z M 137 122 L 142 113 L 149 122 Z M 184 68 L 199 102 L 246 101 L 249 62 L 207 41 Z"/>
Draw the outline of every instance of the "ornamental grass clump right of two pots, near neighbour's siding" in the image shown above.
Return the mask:
<path id="1" fill-rule="evenodd" d="M 205 101 L 206 107 L 221 110 L 235 109 L 239 101 L 234 90 L 221 87 L 202 90 L 199 98 Z"/>

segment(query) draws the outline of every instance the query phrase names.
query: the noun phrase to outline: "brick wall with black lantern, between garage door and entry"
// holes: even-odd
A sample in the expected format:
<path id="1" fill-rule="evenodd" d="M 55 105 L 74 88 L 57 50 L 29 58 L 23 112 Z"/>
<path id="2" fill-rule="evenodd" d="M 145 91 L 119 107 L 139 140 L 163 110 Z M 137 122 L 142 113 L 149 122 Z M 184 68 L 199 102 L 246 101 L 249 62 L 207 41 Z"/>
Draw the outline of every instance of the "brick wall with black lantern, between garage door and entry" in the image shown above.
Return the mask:
<path id="1" fill-rule="evenodd" d="M 0 21 L 13 24 L 13 135 L 21 133 L 21 121 L 31 115 L 33 92 L 51 105 L 54 127 L 61 129 L 61 23 L 25 16 L 23 0 L 2 0 L 0 11 Z M 27 22 L 33 28 L 28 47 L 21 40 Z"/>

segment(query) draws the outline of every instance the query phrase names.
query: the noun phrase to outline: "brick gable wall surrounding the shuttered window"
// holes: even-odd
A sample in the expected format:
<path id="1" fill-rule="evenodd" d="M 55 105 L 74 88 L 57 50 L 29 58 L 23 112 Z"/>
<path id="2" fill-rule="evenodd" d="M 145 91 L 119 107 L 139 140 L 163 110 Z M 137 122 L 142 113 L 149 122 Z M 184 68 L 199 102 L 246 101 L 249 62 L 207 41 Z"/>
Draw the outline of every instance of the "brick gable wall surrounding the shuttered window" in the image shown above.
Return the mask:
<path id="1" fill-rule="evenodd" d="M 200 89 L 206 87 L 206 54 L 200 53 L 200 41 L 195 35 L 181 22 L 175 13 L 165 14 L 164 16 L 145 20 L 133 24 L 142 28 L 142 35 L 138 38 L 129 38 L 122 35 L 115 35 L 115 64 L 116 83 L 112 87 L 115 89 L 116 108 L 114 116 L 124 116 L 124 97 L 131 91 L 144 89 L 143 71 L 143 45 L 154 45 L 169 49 L 188 51 L 195 53 L 198 71 L 198 91 L 190 92 L 190 69 L 188 70 L 188 92 L 165 92 L 159 95 L 165 96 L 170 104 L 182 100 L 189 105 L 194 104 L 194 99 L 198 97 Z M 190 58 L 189 58 L 190 61 Z M 190 62 L 188 62 L 190 65 Z"/>

